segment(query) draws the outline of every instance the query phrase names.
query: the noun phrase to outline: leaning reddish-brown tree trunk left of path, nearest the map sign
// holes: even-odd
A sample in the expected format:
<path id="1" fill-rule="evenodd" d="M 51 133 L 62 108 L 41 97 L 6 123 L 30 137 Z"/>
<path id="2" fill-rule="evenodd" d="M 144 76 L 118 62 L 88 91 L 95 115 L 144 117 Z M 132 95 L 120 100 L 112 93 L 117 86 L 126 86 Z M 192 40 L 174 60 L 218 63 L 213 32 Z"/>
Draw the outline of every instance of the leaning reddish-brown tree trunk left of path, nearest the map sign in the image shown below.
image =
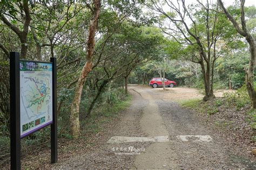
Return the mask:
<path id="1" fill-rule="evenodd" d="M 140 13 L 141 10 L 140 8 L 138 8 L 138 4 L 135 2 L 131 2 L 131 3 L 127 1 L 107 2 L 106 7 L 107 9 L 105 9 L 104 11 L 106 11 L 105 15 L 108 15 L 108 16 L 105 16 L 105 15 L 102 16 L 104 21 L 100 23 L 100 28 L 98 29 L 98 36 L 99 36 L 99 38 L 97 38 L 98 43 L 96 44 L 95 47 L 92 44 L 87 44 L 86 50 L 88 50 L 89 45 L 93 46 L 94 50 L 91 53 L 91 58 L 88 58 L 88 53 L 86 54 L 86 63 L 84 65 L 84 69 L 82 70 L 82 74 L 80 75 L 81 80 L 80 81 L 78 80 L 77 82 L 75 97 L 73 98 L 73 101 L 72 101 L 70 121 L 72 122 L 71 133 L 75 138 L 77 138 L 79 134 L 79 105 L 80 105 L 80 98 L 82 96 L 83 85 L 85 83 L 87 75 L 91 72 L 92 69 L 96 68 L 100 63 L 104 63 L 106 61 L 105 59 L 109 58 L 109 56 L 104 56 L 106 44 L 109 42 L 110 38 L 119 31 L 118 30 L 119 26 L 122 25 L 122 23 L 126 20 L 126 18 L 132 15 L 133 17 L 135 17 L 137 21 L 137 19 L 140 18 L 140 14 L 141 14 Z M 110 9 L 113 11 L 111 11 Z M 114 11 L 114 10 L 117 10 L 117 11 Z M 101 13 L 102 13 L 102 9 L 101 9 Z M 114 18 L 110 20 L 112 15 L 114 15 L 113 16 Z M 145 24 L 145 23 L 140 23 L 136 21 L 132 23 L 134 24 L 133 26 Z M 88 35 L 90 35 L 90 30 Z M 87 38 L 87 40 L 88 39 L 89 38 Z M 95 63 L 92 63 L 92 58 L 95 56 L 98 56 L 98 58 Z"/>

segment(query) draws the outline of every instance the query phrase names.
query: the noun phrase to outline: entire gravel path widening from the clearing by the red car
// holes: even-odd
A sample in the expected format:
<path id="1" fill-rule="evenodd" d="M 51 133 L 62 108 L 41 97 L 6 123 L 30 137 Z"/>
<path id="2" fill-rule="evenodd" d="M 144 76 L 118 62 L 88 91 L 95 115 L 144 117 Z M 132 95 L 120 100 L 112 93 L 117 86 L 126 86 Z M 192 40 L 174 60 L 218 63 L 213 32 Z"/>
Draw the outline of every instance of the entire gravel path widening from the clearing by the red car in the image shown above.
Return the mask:
<path id="1" fill-rule="evenodd" d="M 176 103 L 200 98 L 197 90 L 168 90 L 130 86 L 132 105 L 97 134 L 94 145 L 52 168 L 256 168 L 255 159 L 234 155 L 225 139 Z"/>

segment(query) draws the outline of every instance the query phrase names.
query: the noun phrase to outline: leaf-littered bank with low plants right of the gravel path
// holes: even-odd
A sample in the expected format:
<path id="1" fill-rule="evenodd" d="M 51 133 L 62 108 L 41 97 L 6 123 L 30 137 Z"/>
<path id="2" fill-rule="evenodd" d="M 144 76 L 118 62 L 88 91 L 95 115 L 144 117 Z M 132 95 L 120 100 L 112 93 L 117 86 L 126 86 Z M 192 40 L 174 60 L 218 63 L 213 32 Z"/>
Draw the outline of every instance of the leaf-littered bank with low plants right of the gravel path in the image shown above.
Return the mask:
<path id="1" fill-rule="evenodd" d="M 180 105 L 199 113 L 205 124 L 217 128 L 218 133 L 228 137 L 232 144 L 256 144 L 256 110 L 251 107 L 245 85 L 214 100 L 183 100 Z"/>

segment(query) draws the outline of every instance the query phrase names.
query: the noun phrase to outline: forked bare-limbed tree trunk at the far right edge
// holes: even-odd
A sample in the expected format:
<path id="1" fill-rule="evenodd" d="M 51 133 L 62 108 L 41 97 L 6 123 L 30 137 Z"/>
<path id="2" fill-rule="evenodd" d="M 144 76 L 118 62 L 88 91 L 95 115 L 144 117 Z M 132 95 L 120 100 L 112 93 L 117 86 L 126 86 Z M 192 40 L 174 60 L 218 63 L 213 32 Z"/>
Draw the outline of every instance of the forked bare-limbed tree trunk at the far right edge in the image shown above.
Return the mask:
<path id="1" fill-rule="evenodd" d="M 223 1 L 218 0 L 221 9 L 223 9 L 226 17 L 230 20 L 230 22 L 233 24 L 235 30 L 237 32 L 245 37 L 246 41 L 248 42 L 250 46 L 250 62 L 248 65 L 248 69 L 245 69 L 246 71 L 246 87 L 247 91 L 249 94 L 249 97 L 251 99 L 251 104 L 253 108 L 256 108 L 256 91 L 254 90 L 254 84 L 253 84 L 253 77 L 254 77 L 254 67 L 255 67 L 255 58 L 256 58 L 256 45 L 254 42 L 254 38 L 250 31 L 247 30 L 246 27 L 246 20 L 245 20 L 245 0 L 240 0 L 240 19 L 241 19 L 241 24 L 239 24 L 235 18 L 231 15 L 230 12 L 225 8 Z"/>

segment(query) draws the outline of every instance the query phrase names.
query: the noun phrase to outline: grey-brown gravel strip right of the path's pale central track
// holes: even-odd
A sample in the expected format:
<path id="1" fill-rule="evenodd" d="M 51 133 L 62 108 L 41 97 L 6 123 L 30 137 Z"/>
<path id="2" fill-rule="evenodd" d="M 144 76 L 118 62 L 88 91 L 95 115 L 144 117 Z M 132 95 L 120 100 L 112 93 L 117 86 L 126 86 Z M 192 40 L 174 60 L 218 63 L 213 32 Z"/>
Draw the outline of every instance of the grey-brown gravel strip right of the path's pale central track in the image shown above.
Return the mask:
<path id="1" fill-rule="evenodd" d="M 225 139 L 215 135 L 208 127 L 200 123 L 190 110 L 180 108 L 177 103 L 158 100 L 157 104 L 163 108 L 161 115 L 165 118 L 165 125 L 173 139 L 174 150 L 178 154 L 179 163 L 182 168 L 256 168 L 255 162 L 236 155 L 235 161 L 232 157 L 230 147 Z M 194 142 L 177 140 L 177 135 L 210 135 L 211 142 Z M 247 160 L 247 162 L 243 161 Z"/>

